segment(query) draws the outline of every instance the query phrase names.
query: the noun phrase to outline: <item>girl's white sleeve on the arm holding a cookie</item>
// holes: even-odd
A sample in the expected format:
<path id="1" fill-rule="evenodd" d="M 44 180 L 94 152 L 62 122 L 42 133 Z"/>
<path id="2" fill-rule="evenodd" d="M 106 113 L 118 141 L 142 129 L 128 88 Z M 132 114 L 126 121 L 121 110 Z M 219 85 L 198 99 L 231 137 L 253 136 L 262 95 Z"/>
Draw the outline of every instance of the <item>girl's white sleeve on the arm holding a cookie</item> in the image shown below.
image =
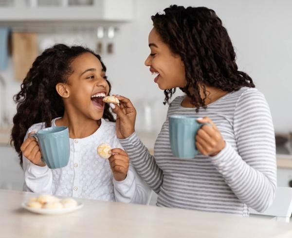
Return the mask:
<path id="1" fill-rule="evenodd" d="M 115 148 L 124 150 L 117 138 L 115 141 Z M 116 181 L 113 178 L 113 187 L 117 202 L 147 204 L 151 194 L 151 189 L 141 179 L 131 163 L 126 179 L 123 181 Z"/>

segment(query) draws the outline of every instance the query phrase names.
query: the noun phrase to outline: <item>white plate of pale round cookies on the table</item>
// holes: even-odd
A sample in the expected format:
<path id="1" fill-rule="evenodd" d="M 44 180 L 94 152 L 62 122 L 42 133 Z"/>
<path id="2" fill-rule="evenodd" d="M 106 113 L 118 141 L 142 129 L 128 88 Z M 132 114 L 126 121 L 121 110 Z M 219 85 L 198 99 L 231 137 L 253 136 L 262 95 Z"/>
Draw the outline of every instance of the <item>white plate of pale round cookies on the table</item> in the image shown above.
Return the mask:
<path id="1" fill-rule="evenodd" d="M 58 215 L 76 211 L 83 207 L 73 198 L 59 199 L 53 195 L 43 194 L 29 199 L 21 204 L 22 207 L 30 212 L 44 215 Z"/>

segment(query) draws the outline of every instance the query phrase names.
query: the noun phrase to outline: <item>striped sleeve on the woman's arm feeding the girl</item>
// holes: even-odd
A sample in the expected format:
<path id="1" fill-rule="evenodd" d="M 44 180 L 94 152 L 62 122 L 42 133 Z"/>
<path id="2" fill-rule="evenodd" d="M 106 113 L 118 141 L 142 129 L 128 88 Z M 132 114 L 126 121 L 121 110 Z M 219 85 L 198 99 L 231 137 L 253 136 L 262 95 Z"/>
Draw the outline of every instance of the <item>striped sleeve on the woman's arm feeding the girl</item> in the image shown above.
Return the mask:
<path id="1" fill-rule="evenodd" d="M 121 139 L 120 142 L 139 175 L 154 192 L 159 193 L 163 183 L 163 171 L 158 167 L 154 156 L 149 153 L 136 132 L 126 139 Z"/>

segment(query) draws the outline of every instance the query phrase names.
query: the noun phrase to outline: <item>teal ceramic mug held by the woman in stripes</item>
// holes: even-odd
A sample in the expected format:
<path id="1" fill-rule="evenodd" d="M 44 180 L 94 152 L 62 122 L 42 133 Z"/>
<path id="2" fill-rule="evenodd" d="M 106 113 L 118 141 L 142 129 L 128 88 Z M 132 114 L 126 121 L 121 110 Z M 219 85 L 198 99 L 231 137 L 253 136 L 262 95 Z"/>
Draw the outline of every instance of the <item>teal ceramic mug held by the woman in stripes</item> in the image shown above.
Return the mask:
<path id="1" fill-rule="evenodd" d="M 199 153 L 196 134 L 204 124 L 209 123 L 200 123 L 197 119 L 194 116 L 169 116 L 169 140 L 174 157 L 189 159 Z"/>

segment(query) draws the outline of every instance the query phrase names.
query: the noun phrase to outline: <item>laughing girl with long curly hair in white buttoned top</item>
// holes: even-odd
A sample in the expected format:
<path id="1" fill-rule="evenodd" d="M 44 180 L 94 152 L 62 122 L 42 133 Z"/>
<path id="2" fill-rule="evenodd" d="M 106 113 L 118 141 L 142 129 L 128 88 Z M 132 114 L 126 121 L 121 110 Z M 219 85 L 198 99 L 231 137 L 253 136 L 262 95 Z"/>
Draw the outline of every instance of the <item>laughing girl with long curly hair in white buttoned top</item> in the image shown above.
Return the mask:
<path id="1" fill-rule="evenodd" d="M 146 203 L 148 189 L 129 165 L 109 106 L 102 101 L 109 93 L 106 67 L 89 49 L 58 44 L 37 57 L 15 96 L 12 141 L 24 170 L 24 190 Z M 36 139 L 29 137 L 49 126 L 69 128 L 70 159 L 61 169 L 49 169 Z M 117 148 L 109 162 L 97 154 L 104 142 Z"/>

